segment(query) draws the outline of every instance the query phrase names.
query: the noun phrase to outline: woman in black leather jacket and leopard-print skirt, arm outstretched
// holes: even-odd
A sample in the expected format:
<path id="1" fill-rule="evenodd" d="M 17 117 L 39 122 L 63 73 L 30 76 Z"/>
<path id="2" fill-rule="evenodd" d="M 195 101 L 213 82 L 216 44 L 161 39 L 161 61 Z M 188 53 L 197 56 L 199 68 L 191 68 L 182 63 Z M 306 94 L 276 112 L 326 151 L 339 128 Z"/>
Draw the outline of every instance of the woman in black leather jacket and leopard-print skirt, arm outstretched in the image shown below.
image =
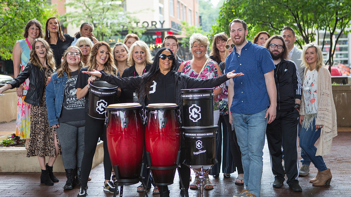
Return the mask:
<path id="1" fill-rule="evenodd" d="M 33 42 L 30 59 L 26 68 L 14 80 L 0 88 L 0 94 L 8 89 L 18 88 L 29 78 L 29 89 L 25 102 L 31 104 L 31 141 L 27 157 L 38 156 L 41 167 L 40 183 L 53 185 L 59 180 L 52 173 L 52 166 L 59 154 L 56 129 L 49 127 L 45 102 L 47 78 L 55 70 L 55 60 L 49 44 L 41 38 Z M 45 165 L 45 156 L 49 161 Z"/>

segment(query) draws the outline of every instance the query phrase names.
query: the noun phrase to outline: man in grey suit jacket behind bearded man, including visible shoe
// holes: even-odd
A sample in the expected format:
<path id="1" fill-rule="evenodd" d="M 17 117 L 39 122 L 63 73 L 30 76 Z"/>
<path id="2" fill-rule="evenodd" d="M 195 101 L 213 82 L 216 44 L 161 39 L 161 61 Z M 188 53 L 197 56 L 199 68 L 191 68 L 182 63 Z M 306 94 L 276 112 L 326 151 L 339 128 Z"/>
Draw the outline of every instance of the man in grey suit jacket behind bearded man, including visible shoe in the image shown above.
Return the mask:
<path id="1" fill-rule="evenodd" d="M 292 61 L 294 61 L 296 63 L 296 66 L 299 69 L 300 78 L 301 78 L 301 81 L 302 81 L 302 84 L 303 84 L 305 67 L 301 66 L 302 50 L 298 49 L 297 47 L 294 46 L 294 42 L 296 41 L 295 31 L 291 27 L 286 26 L 283 29 L 282 36 L 284 38 L 286 47 L 287 47 L 287 49 L 289 51 L 288 57 L 290 58 L 290 60 L 292 60 Z M 299 136 L 300 136 L 300 130 L 301 130 L 301 125 L 298 124 L 298 135 Z M 302 166 L 299 169 L 299 175 L 300 176 L 307 176 L 309 174 L 309 172 L 310 172 L 311 161 L 306 156 L 306 154 L 304 153 L 304 151 L 302 149 L 301 149 L 301 157 L 302 157 L 302 159 L 301 159 Z M 283 159 L 284 159 L 284 153 L 283 153 Z"/>

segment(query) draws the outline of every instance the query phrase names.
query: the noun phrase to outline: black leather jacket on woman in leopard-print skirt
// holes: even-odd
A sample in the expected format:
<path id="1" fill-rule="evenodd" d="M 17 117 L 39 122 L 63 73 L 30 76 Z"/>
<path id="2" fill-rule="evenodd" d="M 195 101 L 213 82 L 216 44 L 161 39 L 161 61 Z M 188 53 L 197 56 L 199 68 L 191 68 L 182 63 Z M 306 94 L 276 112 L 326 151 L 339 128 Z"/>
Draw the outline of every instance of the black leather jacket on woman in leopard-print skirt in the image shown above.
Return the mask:
<path id="1" fill-rule="evenodd" d="M 51 67 L 48 67 L 50 70 Z M 45 68 L 40 70 L 38 66 L 34 66 L 29 62 L 26 68 L 14 80 L 8 82 L 12 88 L 18 88 L 29 77 L 29 89 L 24 99 L 26 103 L 39 106 L 43 87 L 45 83 Z"/>

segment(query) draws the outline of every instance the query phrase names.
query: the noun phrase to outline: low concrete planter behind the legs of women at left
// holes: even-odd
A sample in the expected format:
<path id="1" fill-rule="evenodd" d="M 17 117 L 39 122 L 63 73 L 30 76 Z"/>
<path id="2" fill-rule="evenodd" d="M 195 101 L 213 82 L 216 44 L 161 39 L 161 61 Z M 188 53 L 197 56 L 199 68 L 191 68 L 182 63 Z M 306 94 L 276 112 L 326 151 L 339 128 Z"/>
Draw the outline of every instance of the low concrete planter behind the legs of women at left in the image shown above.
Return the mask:
<path id="1" fill-rule="evenodd" d="M 102 141 L 98 143 L 93 159 L 92 169 L 104 161 Z M 26 157 L 25 147 L 0 147 L 0 172 L 41 172 L 38 157 Z M 46 162 L 49 157 L 46 157 Z M 62 156 L 58 156 L 54 172 L 65 172 Z"/>

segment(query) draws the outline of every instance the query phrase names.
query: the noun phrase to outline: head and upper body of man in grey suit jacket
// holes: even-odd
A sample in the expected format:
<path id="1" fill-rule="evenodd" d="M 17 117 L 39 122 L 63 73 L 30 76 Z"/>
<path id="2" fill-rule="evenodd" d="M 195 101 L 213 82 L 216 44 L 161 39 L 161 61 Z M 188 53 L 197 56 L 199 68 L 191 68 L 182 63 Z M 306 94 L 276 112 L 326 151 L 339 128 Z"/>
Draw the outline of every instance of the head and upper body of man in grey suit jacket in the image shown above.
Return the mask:
<path id="1" fill-rule="evenodd" d="M 290 60 L 295 62 L 297 68 L 299 69 L 300 78 L 301 78 L 301 80 L 303 82 L 304 81 L 305 67 L 301 66 L 302 50 L 298 49 L 297 47 L 294 46 L 294 42 L 296 41 L 295 31 L 291 27 L 286 26 L 283 29 L 282 36 L 283 36 L 283 38 L 285 40 L 286 47 L 287 47 L 287 49 L 289 51 L 288 57 L 289 57 Z"/>

